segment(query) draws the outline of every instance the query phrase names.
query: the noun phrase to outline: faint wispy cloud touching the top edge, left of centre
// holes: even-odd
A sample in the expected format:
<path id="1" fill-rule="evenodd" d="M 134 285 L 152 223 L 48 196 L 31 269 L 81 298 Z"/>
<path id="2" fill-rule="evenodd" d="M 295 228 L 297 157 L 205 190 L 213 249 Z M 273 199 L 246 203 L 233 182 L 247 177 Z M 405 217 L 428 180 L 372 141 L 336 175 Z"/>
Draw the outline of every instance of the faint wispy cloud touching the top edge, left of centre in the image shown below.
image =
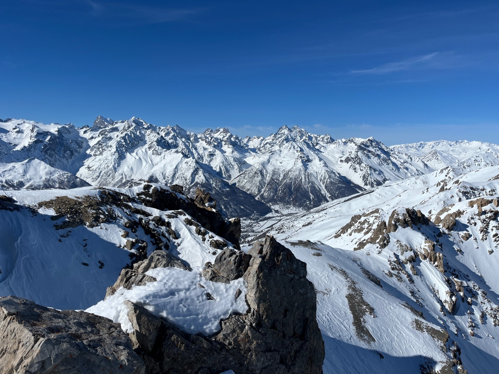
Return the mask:
<path id="1" fill-rule="evenodd" d="M 100 3 L 87 0 L 90 12 L 95 17 L 133 19 L 146 23 L 179 21 L 204 12 L 206 7 L 172 9 L 147 5 L 126 4 L 121 2 Z"/>

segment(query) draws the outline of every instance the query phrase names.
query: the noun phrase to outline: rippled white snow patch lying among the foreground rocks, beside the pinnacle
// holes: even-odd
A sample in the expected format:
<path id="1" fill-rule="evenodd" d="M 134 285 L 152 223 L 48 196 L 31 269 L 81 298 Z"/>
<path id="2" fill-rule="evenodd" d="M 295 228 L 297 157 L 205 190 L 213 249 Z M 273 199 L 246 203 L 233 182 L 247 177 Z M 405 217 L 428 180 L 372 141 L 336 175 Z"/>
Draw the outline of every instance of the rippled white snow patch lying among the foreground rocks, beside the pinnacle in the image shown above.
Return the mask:
<path id="1" fill-rule="evenodd" d="M 220 320 L 230 315 L 245 314 L 246 285 L 240 278 L 230 284 L 210 282 L 201 276 L 201 269 L 192 271 L 167 267 L 148 270 L 156 281 L 130 290 L 120 288 L 114 295 L 88 308 L 86 312 L 121 323 L 125 332 L 133 332 L 124 303 L 143 305 L 152 314 L 168 319 L 191 334 L 212 335 L 220 331 Z M 239 297 L 234 295 L 239 290 Z M 209 297 L 207 297 L 209 295 Z"/>

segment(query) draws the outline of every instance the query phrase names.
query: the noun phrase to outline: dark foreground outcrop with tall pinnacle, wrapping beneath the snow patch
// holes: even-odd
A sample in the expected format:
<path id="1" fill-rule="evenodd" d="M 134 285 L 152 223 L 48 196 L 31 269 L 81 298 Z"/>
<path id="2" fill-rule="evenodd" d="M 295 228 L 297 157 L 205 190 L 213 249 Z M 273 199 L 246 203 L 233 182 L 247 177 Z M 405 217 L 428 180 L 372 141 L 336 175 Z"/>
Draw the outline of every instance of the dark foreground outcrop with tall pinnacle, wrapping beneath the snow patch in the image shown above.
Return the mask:
<path id="1" fill-rule="evenodd" d="M 322 373 L 324 342 L 315 290 L 306 278 L 306 264 L 289 249 L 266 236 L 248 254 L 224 250 L 204 275 L 221 282 L 244 277 L 248 314 L 229 317 L 220 333 L 204 337 L 128 303 L 134 327 L 130 338 L 146 373 Z"/>

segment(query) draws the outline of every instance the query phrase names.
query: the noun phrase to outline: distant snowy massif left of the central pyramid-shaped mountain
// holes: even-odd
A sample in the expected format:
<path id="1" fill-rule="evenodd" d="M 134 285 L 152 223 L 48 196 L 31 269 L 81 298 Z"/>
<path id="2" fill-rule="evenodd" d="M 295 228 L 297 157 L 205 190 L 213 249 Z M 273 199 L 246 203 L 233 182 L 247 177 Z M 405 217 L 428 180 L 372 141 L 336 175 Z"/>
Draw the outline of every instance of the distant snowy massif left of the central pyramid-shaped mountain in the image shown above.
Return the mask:
<path id="1" fill-rule="evenodd" d="M 9 119 L 0 122 L 0 161 L 35 158 L 94 186 L 132 187 L 151 181 L 179 184 L 191 195 L 201 187 L 229 215 L 266 214 L 270 209 L 265 204 L 226 180 L 241 171 L 238 165 L 246 165 L 246 155 L 239 157 L 242 141 L 227 133 L 205 132 L 198 139 L 178 126 L 157 128 L 138 118 L 115 122 L 99 116 L 92 127 L 79 129 Z M 28 172 L 16 170 L 16 186 L 35 177 Z"/>

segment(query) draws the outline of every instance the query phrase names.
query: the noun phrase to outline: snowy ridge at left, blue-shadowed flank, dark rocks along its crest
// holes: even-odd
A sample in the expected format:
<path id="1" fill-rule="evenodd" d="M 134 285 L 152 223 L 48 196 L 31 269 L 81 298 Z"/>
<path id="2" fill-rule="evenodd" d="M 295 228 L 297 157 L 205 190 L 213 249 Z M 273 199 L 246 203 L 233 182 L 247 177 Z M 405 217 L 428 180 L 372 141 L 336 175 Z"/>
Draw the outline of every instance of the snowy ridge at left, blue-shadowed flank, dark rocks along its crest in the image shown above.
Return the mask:
<path id="1" fill-rule="evenodd" d="M 166 210 L 151 207 L 151 188 L 160 197 L 171 196 L 164 200 Z M 156 185 L 0 192 L 0 296 L 85 309 L 104 298 L 123 267 L 154 250 L 200 267 L 221 248 L 232 247 L 178 210 L 177 200 L 194 206 L 186 196 Z M 224 232 L 218 213 L 193 209 L 206 212 L 213 229 Z"/>

